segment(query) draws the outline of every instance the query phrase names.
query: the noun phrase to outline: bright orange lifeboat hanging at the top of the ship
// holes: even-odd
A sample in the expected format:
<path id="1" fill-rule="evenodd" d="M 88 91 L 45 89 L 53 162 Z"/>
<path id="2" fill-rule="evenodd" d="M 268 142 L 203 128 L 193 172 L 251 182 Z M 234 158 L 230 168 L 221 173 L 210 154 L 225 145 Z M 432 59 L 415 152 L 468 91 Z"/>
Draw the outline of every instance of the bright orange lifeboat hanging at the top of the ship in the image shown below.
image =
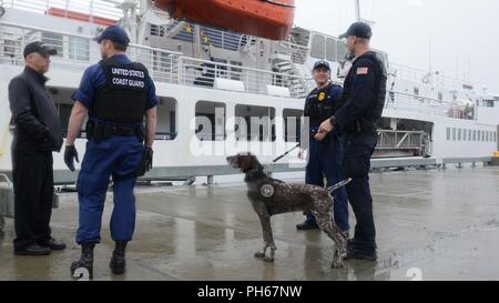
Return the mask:
<path id="1" fill-rule="evenodd" d="M 294 19 L 294 0 L 155 0 L 175 19 L 240 33 L 284 40 Z"/>

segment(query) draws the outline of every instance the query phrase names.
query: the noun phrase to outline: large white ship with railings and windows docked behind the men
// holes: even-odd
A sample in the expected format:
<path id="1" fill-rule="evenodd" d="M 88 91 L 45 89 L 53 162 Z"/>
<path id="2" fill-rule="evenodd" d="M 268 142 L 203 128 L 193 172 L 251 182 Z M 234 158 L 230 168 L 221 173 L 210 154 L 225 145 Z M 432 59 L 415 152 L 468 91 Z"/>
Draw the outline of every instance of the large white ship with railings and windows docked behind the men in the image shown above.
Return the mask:
<path id="1" fill-rule="evenodd" d="M 41 29 L 40 26 L 42 26 Z M 96 44 L 90 40 L 91 33 L 96 28 L 91 23 L 39 16 L 16 9 L 8 9 L 6 16 L 0 19 L 2 49 L 0 52 L 3 51 L 0 53 L 0 97 L 2 97 L 0 171 L 11 171 L 7 88 L 9 81 L 23 69 L 20 50 L 26 44 L 24 40 L 60 37 L 58 38 L 60 41 L 55 40 L 55 46 L 60 48 L 62 54 L 52 59 L 51 70 L 48 73 L 50 81 L 47 85 L 64 121 L 69 118 L 72 105 L 71 94 L 78 89 L 84 69 L 100 59 Z M 60 29 L 64 30 L 61 32 Z M 73 32 L 75 29 L 79 33 Z M 303 31 L 303 29 L 296 30 L 297 33 Z M 220 34 L 224 41 L 224 34 L 227 33 Z M 306 34 L 308 38 L 319 36 L 312 31 Z M 139 32 L 139 37 L 141 36 L 144 36 L 144 32 Z M 149 41 L 152 43 L 157 38 L 150 36 Z M 190 50 L 183 48 L 185 41 L 175 40 L 176 38 L 170 40 L 163 38 L 157 40 L 157 43 L 166 41 L 164 48 L 167 48 L 172 47 L 167 44 L 167 41 L 177 41 L 176 47 L 183 48 L 183 53 L 140 44 L 129 50 L 132 60 L 142 61 L 150 69 L 155 80 L 156 94 L 162 100 L 159 105 L 159 134 L 154 144 L 155 168 L 222 166 L 226 165 L 226 155 L 241 151 L 252 151 L 259 155 L 263 163 L 269 163 L 272 159 L 296 145 L 297 138 L 285 140 L 283 117 L 299 117 L 303 111 L 303 97 L 312 88 L 309 65 L 316 60 L 312 55 L 314 50 L 289 42 L 269 42 L 251 37 L 236 38 L 238 40 L 232 41 L 236 41 L 237 44 L 227 47 L 222 43 L 220 49 L 213 52 L 218 58 L 223 55 L 231 58 L 222 63 L 203 60 L 203 55 L 201 59 L 190 57 L 190 54 L 196 54 L 195 39 L 192 42 L 192 53 L 187 53 Z M 312 39 L 308 42 L 309 47 L 313 47 Z M 75 44 L 75 41 L 83 44 L 85 51 L 79 52 L 79 44 Z M 340 42 L 337 41 L 337 43 L 339 58 Z M 278 51 L 283 53 L 278 54 Z M 203 54 L 202 51 L 201 53 Z M 262 58 L 257 58 L 258 54 Z M 386 54 L 383 55 L 386 57 Z M 233 61 L 240 63 L 233 64 Z M 273 63 L 269 64 L 269 61 Z M 254 62 L 255 65 L 248 65 L 248 62 Z M 334 69 L 340 70 L 340 62 L 332 61 L 330 63 Z M 283 70 L 268 71 L 271 68 L 283 68 Z M 212 74 L 207 73 L 212 78 L 207 79 L 203 69 L 214 69 Z M 396 74 L 397 72 L 399 74 Z M 396 141 L 379 143 L 380 155 L 393 156 L 400 152 L 401 155 L 431 156 L 438 162 L 444 158 L 491 156 L 498 150 L 499 102 L 497 100 L 487 101 L 485 97 L 469 89 L 462 89 L 460 85 L 455 85 L 455 90 L 451 91 L 438 81 L 437 84 L 428 81 L 431 80 L 428 78 L 426 82 L 409 81 L 407 77 L 401 77 L 403 72 L 405 71 L 400 68 L 390 69 L 389 94 L 381 123 L 384 125 L 381 132 L 386 134 L 381 133 L 380 139 L 386 135 L 388 141 L 394 138 Z M 206 88 L 206 82 L 203 82 L 206 79 L 211 81 L 210 88 Z M 415 79 L 421 80 L 420 77 Z M 334 80 L 342 79 L 335 77 Z M 466 115 L 469 112 L 464 111 L 462 104 L 454 102 L 461 99 L 472 105 L 470 115 Z M 196 134 L 198 128 L 195 123 L 196 115 L 216 119 L 215 108 L 220 107 L 224 108 L 226 137 L 216 138 L 213 141 L 216 134 L 212 131 L 201 130 Z M 247 142 L 246 138 L 235 139 L 235 117 L 263 117 L 267 115 L 266 113 L 271 113 L 276 121 L 273 133 L 266 130 L 271 138 L 275 137 L 275 140 L 267 138 Z M 422 134 L 416 140 L 425 147 L 409 142 L 410 137 L 415 135 L 410 133 L 413 131 Z M 400 132 L 400 138 L 394 132 Z M 404 138 L 407 140 L 404 141 Z M 75 144 L 80 154 L 84 153 L 85 141 L 84 138 L 77 140 Z M 424 152 L 419 153 L 418 149 Z M 296 159 L 296 151 L 289 154 L 289 159 L 295 164 L 299 162 Z M 67 169 L 62 153 L 54 153 L 54 169 L 60 171 Z"/>

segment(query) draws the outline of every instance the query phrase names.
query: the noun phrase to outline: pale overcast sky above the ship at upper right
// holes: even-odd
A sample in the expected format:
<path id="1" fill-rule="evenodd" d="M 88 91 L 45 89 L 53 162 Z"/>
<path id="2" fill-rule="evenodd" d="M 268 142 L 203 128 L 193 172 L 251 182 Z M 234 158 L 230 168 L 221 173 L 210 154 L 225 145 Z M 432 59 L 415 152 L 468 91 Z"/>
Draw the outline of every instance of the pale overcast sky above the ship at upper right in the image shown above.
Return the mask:
<path id="1" fill-rule="evenodd" d="M 373 47 L 391 62 L 469 80 L 499 93 L 498 0 L 360 0 Z M 355 0 L 296 0 L 295 24 L 337 37 L 355 20 Z M 431 53 L 431 55 L 430 55 Z M 430 60 L 431 58 L 431 60 Z"/>

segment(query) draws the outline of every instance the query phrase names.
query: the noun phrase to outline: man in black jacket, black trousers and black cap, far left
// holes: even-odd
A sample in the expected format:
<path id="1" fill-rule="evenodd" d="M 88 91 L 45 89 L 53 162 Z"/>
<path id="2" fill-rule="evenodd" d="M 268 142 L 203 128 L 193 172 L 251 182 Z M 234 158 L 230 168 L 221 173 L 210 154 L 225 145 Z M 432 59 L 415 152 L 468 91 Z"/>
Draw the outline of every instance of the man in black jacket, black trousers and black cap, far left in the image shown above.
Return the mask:
<path id="1" fill-rule="evenodd" d="M 9 83 L 16 125 L 12 142 L 14 188 L 14 254 L 45 255 L 65 244 L 51 236 L 53 200 L 52 152 L 62 147 L 61 123 L 45 90 L 50 55 L 57 50 L 40 41 L 24 48 L 24 71 Z"/>

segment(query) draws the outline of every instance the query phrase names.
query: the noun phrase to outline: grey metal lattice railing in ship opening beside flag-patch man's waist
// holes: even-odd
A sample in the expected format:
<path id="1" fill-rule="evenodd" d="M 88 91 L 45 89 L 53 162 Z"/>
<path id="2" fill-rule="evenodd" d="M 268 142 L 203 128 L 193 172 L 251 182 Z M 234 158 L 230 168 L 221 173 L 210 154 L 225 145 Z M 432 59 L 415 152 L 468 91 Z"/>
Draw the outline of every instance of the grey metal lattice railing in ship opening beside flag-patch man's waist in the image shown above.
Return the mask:
<path id="1" fill-rule="evenodd" d="M 424 131 L 378 131 L 377 150 L 420 150 L 425 147 Z"/>

